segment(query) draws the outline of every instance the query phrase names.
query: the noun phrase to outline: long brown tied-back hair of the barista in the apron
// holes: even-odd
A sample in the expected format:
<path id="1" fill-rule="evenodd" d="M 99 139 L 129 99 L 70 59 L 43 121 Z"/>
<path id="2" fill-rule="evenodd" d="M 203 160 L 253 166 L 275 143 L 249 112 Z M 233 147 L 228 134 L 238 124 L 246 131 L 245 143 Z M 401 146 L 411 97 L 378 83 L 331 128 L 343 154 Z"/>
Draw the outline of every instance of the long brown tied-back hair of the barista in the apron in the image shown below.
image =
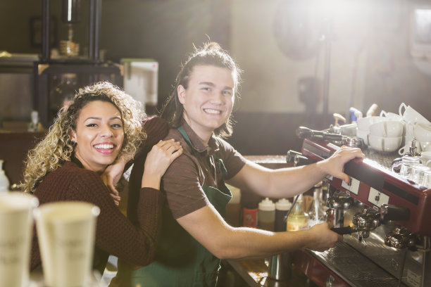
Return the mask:
<path id="1" fill-rule="evenodd" d="M 215 42 L 204 44 L 204 48 L 202 49 L 195 47 L 195 51 L 189 56 L 185 64 L 182 65 L 175 80 L 175 87 L 173 87 L 172 93 L 161 110 L 161 117 L 169 122 L 170 127 L 180 127 L 184 122 L 184 108 L 178 99 L 177 88 L 182 85 L 182 87 L 187 89 L 193 68 L 199 65 L 213 65 L 230 70 L 234 76 L 235 94 L 239 94 L 238 89 L 242 70 L 238 68 L 229 54 Z M 222 137 L 230 136 L 232 134 L 232 115 L 229 115 L 227 122 L 215 129 L 213 134 Z"/>

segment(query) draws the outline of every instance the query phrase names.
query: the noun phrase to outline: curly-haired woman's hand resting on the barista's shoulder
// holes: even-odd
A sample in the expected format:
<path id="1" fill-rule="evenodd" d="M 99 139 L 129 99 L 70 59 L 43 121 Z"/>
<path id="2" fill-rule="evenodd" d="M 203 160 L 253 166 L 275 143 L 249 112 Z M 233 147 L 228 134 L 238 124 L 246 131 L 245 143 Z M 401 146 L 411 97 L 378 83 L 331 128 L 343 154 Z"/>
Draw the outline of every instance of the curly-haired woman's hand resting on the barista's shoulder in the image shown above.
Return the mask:
<path id="1" fill-rule="evenodd" d="M 168 139 L 159 141 L 146 155 L 142 187 L 160 189 L 160 181 L 169 165 L 182 154 L 182 146 L 178 141 Z"/>

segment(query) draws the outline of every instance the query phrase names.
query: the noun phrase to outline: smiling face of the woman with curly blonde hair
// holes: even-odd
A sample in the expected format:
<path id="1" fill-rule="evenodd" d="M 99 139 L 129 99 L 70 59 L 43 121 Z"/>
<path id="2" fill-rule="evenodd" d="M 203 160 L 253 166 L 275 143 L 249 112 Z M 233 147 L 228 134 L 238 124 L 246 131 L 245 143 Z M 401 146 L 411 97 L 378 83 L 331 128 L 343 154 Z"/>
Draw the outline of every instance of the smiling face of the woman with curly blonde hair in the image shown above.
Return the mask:
<path id="1" fill-rule="evenodd" d="M 104 172 L 120 153 L 124 140 L 120 111 L 105 101 L 92 101 L 81 110 L 76 129 L 70 133 L 75 141 L 75 157 L 86 170 Z"/>

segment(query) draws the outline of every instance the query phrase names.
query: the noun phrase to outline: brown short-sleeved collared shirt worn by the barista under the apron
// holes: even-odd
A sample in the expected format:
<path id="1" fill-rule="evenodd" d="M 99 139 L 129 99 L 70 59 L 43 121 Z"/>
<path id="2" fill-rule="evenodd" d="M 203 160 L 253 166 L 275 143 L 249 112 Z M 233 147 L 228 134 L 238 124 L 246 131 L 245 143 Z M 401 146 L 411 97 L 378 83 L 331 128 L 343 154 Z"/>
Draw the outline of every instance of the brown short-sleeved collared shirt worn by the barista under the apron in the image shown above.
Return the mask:
<path id="1" fill-rule="evenodd" d="M 193 151 L 177 129 L 170 129 L 166 139 L 180 141 L 183 153 L 168 167 L 163 176 L 163 189 L 175 219 L 209 204 L 202 186 L 219 188 L 223 184 L 221 171 L 215 169 L 213 155 L 223 160 L 227 174 L 235 176 L 245 165 L 245 158 L 223 139 L 212 136 L 208 146 L 185 123 L 182 126 L 192 142 Z"/>

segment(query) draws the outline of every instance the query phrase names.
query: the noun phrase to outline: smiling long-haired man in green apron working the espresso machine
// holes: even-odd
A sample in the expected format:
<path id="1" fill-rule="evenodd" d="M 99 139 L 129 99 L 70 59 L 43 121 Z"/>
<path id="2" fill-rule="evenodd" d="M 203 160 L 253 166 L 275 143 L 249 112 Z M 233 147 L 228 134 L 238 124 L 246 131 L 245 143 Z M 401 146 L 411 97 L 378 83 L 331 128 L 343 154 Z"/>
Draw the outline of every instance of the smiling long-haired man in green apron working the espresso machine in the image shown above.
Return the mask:
<path id="1" fill-rule="evenodd" d="M 149 266 L 119 266 L 117 279 L 123 285 L 215 286 L 220 259 L 268 257 L 299 248 L 322 251 L 342 240 L 327 223 L 274 233 L 225 222 L 225 207 L 232 198 L 225 181 L 263 197 L 289 198 L 327 174 L 349 181 L 342 172 L 344 163 L 364 156 L 358 148 L 343 147 L 327 160 L 279 170 L 246 160 L 222 139 L 232 133 L 230 115 L 238 84 L 237 65 L 216 43 L 196 50 L 177 75 L 161 117 L 170 125 L 165 139 L 180 141 L 183 153 L 163 175 L 167 204 L 161 242 Z"/>

